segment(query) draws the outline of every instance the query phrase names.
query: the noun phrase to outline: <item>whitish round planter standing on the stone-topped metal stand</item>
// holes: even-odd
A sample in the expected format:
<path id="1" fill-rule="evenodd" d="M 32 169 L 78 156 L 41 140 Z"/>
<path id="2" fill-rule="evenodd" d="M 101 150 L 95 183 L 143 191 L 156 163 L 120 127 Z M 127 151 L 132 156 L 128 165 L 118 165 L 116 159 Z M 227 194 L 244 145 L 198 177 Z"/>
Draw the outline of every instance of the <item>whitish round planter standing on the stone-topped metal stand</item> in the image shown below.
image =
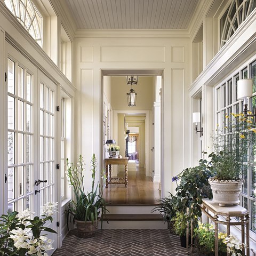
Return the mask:
<path id="1" fill-rule="evenodd" d="M 216 180 L 209 179 L 212 189 L 212 201 L 219 206 L 238 205 L 244 180 Z"/>

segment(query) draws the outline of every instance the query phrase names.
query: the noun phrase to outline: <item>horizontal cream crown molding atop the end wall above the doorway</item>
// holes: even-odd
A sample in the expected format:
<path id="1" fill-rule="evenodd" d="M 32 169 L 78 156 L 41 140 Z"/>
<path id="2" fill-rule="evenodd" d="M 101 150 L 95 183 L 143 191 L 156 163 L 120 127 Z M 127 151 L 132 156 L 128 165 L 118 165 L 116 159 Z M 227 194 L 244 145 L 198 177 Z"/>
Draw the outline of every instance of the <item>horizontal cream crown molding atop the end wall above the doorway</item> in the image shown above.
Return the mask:
<path id="1" fill-rule="evenodd" d="M 189 33 L 187 29 L 77 29 L 75 39 L 82 38 L 189 39 Z"/>

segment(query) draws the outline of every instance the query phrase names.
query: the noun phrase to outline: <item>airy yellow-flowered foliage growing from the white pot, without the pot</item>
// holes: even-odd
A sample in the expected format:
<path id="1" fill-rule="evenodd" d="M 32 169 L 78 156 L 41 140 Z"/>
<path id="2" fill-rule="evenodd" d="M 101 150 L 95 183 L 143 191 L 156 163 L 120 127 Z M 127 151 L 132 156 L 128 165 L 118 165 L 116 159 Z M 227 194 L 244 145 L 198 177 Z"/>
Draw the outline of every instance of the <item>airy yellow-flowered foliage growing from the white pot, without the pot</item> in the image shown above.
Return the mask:
<path id="1" fill-rule="evenodd" d="M 243 113 L 226 115 L 218 125 L 211 153 L 213 180 L 239 180 L 244 163 L 249 162 L 248 149 L 255 142 L 256 129 L 252 117 Z"/>

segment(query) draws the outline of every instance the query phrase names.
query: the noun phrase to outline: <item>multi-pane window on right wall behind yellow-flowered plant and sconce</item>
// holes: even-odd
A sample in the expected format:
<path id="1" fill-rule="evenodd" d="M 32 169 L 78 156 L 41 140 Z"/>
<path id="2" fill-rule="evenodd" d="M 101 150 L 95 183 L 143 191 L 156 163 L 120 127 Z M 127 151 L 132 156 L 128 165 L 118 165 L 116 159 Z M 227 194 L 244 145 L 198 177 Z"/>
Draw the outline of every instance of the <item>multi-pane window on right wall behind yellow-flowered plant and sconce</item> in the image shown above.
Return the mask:
<path id="1" fill-rule="evenodd" d="M 222 124 L 226 114 L 241 113 L 243 102 L 237 100 L 237 81 L 242 78 L 253 79 L 253 97 L 249 100 L 249 109 L 256 109 L 256 60 L 248 63 L 243 69 L 237 71 L 225 83 L 215 88 L 215 124 Z M 254 120 L 255 122 L 255 120 Z M 225 125 L 225 124 L 223 124 Z M 224 134 L 225 135 L 225 134 Z M 243 165 L 242 178 L 245 180 L 241 205 L 250 211 L 250 229 L 256 233 L 255 185 L 256 185 L 256 140 L 255 133 L 251 133 L 252 143 L 248 157 Z"/>

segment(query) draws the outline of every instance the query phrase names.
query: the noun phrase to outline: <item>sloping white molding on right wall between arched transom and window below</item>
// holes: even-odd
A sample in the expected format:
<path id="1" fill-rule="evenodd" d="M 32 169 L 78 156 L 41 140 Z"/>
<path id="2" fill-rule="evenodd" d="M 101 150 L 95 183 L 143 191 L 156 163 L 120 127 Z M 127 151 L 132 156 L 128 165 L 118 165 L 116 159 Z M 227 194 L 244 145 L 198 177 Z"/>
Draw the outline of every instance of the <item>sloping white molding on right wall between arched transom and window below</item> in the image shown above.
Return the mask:
<path id="1" fill-rule="evenodd" d="M 220 51 L 205 67 L 202 73 L 195 79 L 189 87 L 189 96 L 193 95 L 205 84 L 216 81 L 215 78 L 225 69 L 234 68 L 234 60 L 243 52 L 249 49 L 249 53 L 256 53 L 256 9 L 236 30 L 234 35 L 220 49 Z M 253 50 L 254 49 L 254 50 Z M 233 65 L 232 65 L 233 64 Z M 239 65 L 238 62 L 235 65 Z M 225 72 L 226 73 L 226 72 Z M 214 84 L 213 84 L 214 85 Z"/>

